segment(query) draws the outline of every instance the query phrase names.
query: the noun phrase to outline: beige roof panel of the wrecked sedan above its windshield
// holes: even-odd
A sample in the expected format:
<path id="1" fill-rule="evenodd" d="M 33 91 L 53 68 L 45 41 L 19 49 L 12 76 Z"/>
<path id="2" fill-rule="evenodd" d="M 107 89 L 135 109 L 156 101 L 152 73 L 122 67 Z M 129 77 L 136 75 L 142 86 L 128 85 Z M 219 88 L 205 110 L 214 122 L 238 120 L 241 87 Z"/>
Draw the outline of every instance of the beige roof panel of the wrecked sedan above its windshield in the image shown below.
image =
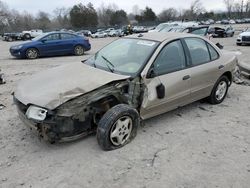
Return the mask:
<path id="1" fill-rule="evenodd" d="M 178 33 L 178 32 L 150 32 L 150 33 L 143 33 L 143 34 L 133 34 L 127 36 L 126 38 L 136 38 L 136 39 L 145 39 L 145 40 L 154 40 L 158 42 L 163 42 L 165 40 L 173 40 L 178 38 L 184 37 L 196 37 L 201 38 L 198 35 L 193 35 L 189 33 Z"/>

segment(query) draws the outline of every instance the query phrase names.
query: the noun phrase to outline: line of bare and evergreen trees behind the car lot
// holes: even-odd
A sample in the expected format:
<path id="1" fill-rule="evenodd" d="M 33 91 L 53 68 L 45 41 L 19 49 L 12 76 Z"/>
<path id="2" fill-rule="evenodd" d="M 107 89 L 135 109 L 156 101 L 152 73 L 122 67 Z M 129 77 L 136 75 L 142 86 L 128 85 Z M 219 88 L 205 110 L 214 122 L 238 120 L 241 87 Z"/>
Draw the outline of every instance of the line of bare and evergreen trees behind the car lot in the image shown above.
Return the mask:
<path id="1" fill-rule="evenodd" d="M 158 22 L 175 20 L 207 20 L 250 17 L 250 0 L 224 0 L 226 12 L 206 11 L 200 0 L 194 0 L 188 9 L 170 7 L 158 15 L 150 7 L 140 9 L 137 5 L 132 12 L 119 9 L 116 4 L 102 4 L 95 9 L 92 3 L 76 4 L 70 8 L 56 8 L 53 13 L 39 11 L 36 15 L 10 9 L 0 0 L 0 33 L 20 32 L 30 29 L 93 29 L 97 27 L 122 26 L 129 23 L 155 25 Z"/>

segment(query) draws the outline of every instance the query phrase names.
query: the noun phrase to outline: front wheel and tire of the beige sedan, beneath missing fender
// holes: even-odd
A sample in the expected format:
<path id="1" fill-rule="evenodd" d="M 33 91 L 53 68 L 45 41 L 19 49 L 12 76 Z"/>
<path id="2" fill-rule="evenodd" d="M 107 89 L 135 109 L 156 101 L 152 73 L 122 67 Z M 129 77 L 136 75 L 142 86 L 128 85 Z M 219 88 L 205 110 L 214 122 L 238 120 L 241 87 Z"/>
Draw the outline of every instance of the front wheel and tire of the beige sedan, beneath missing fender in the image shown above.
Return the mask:
<path id="1" fill-rule="evenodd" d="M 106 151 L 123 147 L 135 138 L 139 124 L 137 110 L 118 104 L 109 109 L 98 123 L 98 144 Z"/>

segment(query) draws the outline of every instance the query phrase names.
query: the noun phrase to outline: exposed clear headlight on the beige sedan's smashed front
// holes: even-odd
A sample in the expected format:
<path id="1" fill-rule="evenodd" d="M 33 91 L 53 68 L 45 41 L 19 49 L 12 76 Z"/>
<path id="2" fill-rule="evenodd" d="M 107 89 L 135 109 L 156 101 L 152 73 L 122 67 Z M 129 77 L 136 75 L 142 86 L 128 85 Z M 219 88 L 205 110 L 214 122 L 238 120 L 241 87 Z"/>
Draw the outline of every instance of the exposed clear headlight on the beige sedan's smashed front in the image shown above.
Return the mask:
<path id="1" fill-rule="evenodd" d="M 47 112 L 48 111 L 46 109 L 36 106 L 30 106 L 26 111 L 26 116 L 28 119 L 43 121 L 46 118 Z"/>

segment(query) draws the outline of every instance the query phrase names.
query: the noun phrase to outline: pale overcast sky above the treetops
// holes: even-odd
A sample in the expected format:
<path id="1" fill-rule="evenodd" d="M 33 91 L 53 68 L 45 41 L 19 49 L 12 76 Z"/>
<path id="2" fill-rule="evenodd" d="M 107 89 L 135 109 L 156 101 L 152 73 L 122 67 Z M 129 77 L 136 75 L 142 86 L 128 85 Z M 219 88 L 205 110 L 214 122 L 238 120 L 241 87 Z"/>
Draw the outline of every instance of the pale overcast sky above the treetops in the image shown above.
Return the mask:
<path id="1" fill-rule="evenodd" d="M 174 7 L 176 9 L 185 9 L 190 6 L 193 0 L 2 0 L 10 9 L 16 9 L 20 12 L 27 11 L 36 14 L 38 11 L 52 13 L 57 7 L 71 7 L 74 4 L 91 2 L 95 8 L 102 3 L 105 5 L 115 3 L 120 9 L 126 12 L 132 12 L 132 7 L 138 5 L 140 9 L 149 6 L 157 14 L 164 8 Z M 225 10 L 223 0 L 201 0 L 206 10 L 220 11 Z"/>

